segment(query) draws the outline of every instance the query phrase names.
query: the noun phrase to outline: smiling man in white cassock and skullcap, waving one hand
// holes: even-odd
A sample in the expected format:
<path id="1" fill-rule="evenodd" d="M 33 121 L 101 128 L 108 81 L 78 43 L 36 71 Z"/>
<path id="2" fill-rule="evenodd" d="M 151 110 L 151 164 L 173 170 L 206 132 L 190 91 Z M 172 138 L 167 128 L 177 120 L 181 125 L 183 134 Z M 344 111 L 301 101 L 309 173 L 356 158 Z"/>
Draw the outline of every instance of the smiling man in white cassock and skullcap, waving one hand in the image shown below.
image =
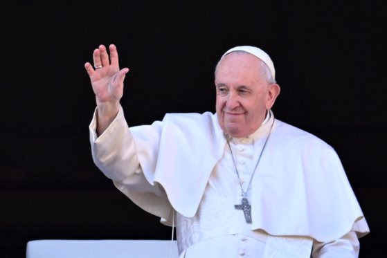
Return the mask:
<path id="1" fill-rule="evenodd" d="M 127 127 L 114 45 L 85 64 L 93 160 L 141 208 L 176 223 L 180 257 L 357 257 L 368 225 L 332 147 L 276 120 L 280 86 L 260 48 L 228 50 L 214 115 Z M 176 217 L 175 217 L 176 214 Z"/>

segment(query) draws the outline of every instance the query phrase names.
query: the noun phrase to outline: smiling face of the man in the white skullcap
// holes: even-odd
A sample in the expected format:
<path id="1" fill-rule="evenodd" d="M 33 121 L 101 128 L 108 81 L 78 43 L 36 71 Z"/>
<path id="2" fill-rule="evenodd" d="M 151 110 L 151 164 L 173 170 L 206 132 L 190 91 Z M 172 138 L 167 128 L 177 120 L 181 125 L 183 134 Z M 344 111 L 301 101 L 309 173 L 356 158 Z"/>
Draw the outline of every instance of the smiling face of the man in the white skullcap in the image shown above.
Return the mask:
<path id="1" fill-rule="evenodd" d="M 273 105 L 261 62 L 249 53 L 230 53 L 217 66 L 217 118 L 229 136 L 249 136 L 260 127 L 267 109 Z"/>

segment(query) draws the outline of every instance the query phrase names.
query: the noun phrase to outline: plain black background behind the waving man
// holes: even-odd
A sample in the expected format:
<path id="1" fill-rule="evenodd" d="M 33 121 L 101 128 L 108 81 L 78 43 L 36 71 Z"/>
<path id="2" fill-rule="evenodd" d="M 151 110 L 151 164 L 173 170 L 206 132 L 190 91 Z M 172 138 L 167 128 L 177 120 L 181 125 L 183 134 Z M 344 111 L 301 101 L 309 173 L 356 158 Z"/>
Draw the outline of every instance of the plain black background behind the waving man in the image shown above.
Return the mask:
<path id="1" fill-rule="evenodd" d="M 33 239 L 168 239 L 93 165 L 84 62 L 114 43 L 131 71 L 129 125 L 214 111 L 228 48 L 276 64 L 280 120 L 339 153 L 368 219 L 361 257 L 384 257 L 386 27 L 381 1 L 1 1 L 0 257 Z"/>

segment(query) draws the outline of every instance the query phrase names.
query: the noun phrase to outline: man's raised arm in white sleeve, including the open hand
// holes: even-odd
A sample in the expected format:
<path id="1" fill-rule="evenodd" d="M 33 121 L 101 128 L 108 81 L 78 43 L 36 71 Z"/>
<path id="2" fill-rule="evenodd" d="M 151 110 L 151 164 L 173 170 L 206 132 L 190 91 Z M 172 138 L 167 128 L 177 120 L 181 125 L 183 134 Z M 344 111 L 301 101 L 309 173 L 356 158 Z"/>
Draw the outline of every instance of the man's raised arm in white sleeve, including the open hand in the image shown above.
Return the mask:
<path id="1" fill-rule="evenodd" d="M 120 108 L 123 81 L 129 69 L 120 70 L 116 46 L 110 45 L 109 50 L 110 62 L 105 46 L 101 45 L 93 52 L 96 69 L 89 62 L 84 64 L 97 103 L 89 127 L 94 163 L 134 203 L 156 216 L 168 219 L 172 208 L 167 196 L 159 185 L 153 185 L 145 178 L 134 136 Z"/>

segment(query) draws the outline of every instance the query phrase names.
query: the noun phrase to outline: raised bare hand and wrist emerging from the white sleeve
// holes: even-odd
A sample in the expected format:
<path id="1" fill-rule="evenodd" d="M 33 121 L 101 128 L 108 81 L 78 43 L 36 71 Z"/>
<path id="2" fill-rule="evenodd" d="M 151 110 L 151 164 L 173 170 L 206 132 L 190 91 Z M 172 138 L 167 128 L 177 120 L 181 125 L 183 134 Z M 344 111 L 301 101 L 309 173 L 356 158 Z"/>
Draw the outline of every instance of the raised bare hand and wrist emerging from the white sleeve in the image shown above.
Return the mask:
<path id="1" fill-rule="evenodd" d="M 100 45 L 93 52 L 94 68 L 89 62 L 84 64 L 89 74 L 91 86 L 96 94 L 97 102 L 97 133 L 101 134 L 114 120 L 123 97 L 123 86 L 128 68 L 120 70 L 117 48 L 109 46 L 109 54 L 105 46 Z"/>

